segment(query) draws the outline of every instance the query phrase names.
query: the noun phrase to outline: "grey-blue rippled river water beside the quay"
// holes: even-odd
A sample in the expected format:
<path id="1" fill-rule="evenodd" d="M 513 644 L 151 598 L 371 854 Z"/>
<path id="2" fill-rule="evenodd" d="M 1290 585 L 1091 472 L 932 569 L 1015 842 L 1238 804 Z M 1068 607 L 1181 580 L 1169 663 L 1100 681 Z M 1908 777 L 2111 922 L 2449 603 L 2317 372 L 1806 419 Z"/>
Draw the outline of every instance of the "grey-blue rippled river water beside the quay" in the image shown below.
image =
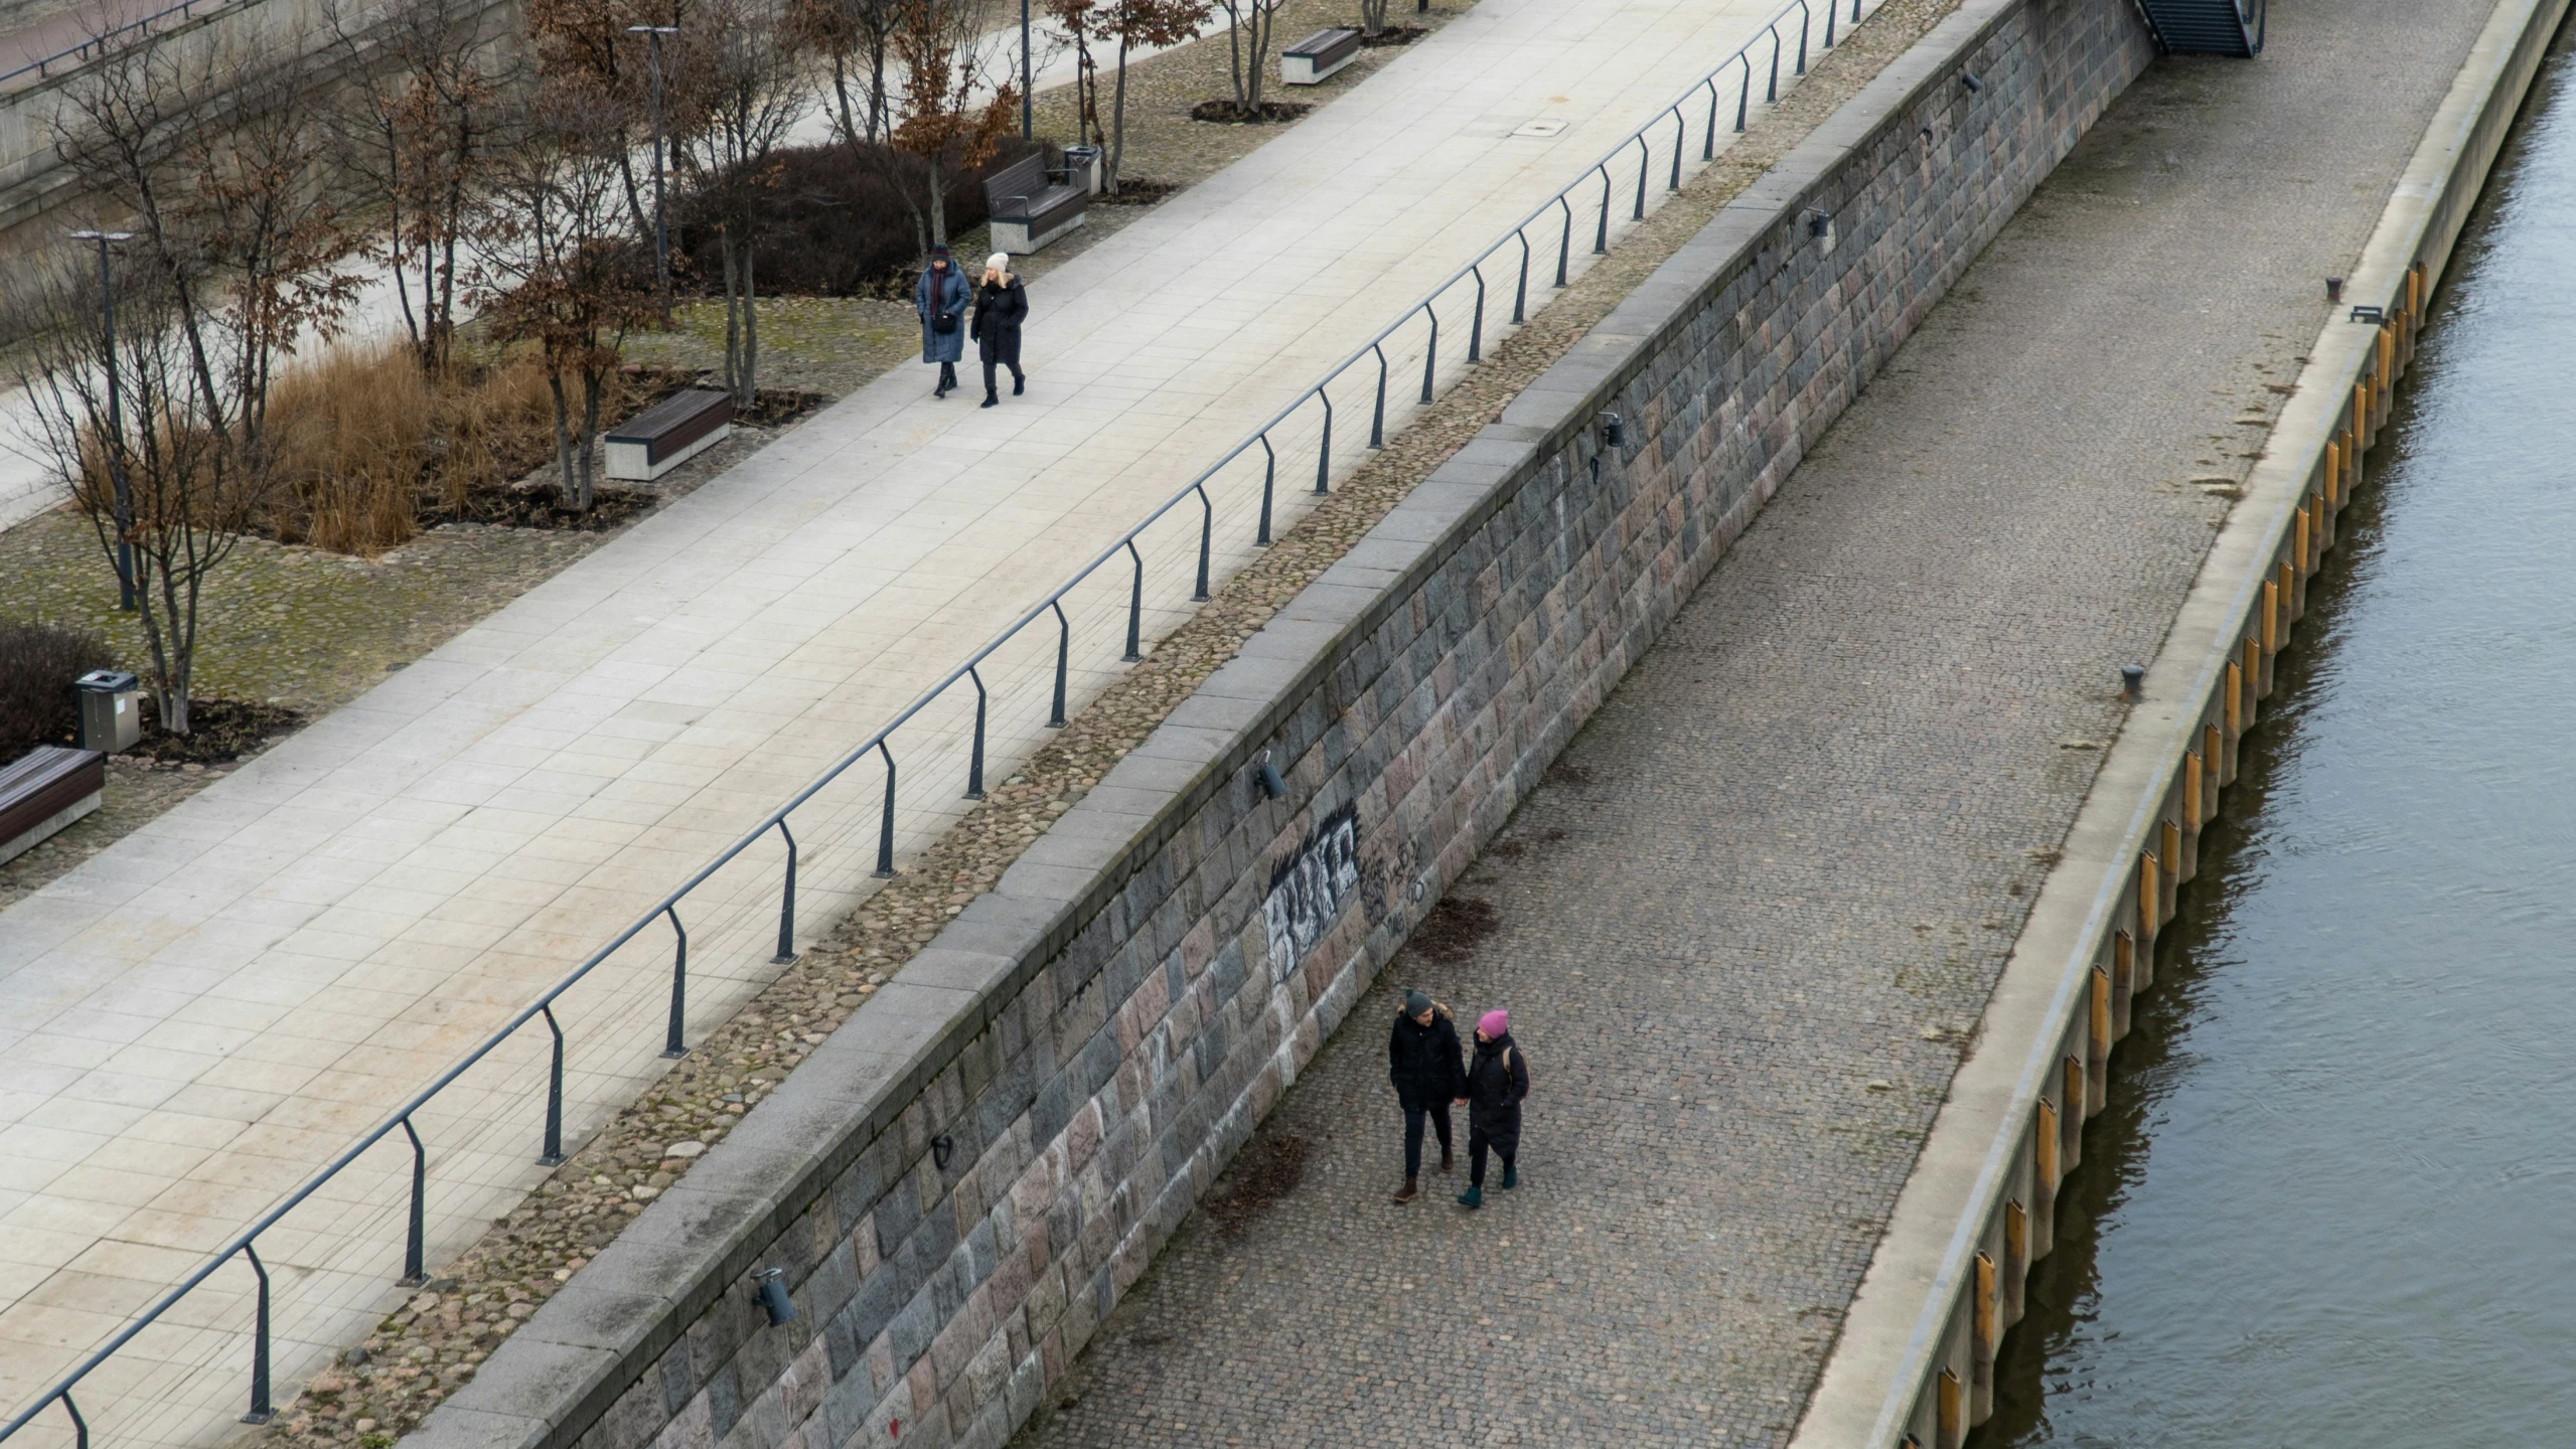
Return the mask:
<path id="1" fill-rule="evenodd" d="M 2576 1426 L 2566 36 L 2383 438 L 2112 1058 L 1981 1446 Z"/>

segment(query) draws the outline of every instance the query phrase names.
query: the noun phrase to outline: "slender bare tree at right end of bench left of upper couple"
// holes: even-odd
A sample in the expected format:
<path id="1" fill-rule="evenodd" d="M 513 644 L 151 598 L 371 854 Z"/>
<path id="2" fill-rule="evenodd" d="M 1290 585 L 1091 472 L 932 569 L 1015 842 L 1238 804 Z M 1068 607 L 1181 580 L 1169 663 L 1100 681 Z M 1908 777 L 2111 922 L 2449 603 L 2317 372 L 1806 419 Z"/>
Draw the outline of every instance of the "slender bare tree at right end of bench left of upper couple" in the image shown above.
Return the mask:
<path id="1" fill-rule="evenodd" d="M 690 100 L 680 170 L 716 226 L 724 265 L 724 386 L 752 407 L 760 365 L 760 296 L 752 257 L 778 190 L 773 152 L 811 106 L 801 59 L 778 39 L 765 0 L 703 0 L 675 46 Z"/>

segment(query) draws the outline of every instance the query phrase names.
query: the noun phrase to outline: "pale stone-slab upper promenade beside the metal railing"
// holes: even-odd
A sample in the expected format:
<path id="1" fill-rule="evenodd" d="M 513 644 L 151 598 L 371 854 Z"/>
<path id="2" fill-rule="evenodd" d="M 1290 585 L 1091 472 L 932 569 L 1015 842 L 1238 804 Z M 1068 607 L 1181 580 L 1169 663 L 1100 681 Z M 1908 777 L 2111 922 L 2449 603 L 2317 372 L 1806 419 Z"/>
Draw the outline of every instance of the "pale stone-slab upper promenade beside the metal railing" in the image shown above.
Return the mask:
<path id="1" fill-rule="evenodd" d="M 1030 396 L 979 412 L 974 391 L 933 404 L 927 371 L 889 376 L 0 914 L 0 1400 L 103 1341 L 1770 5 L 1484 0 L 1048 273 Z M 1533 118 L 1566 126 L 1515 134 Z M 1391 360 L 1401 422 L 1419 353 Z M 1360 383 L 1340 399 L 1345 463 L 1365 407 Z M 1314 466 L 1296 448 L 1283 517 Z M 1218 574 L 1247 553 L 1257 466 L 1229 489 Z M 1188 610 L 1195 543 L 1185 515 L 1149 540 L 1149 638 Z M 1126 579 L 1069 613 L 1079 705 L 1118 669 Z M 1038 736 L 1051 664 L 1038 633 L 987 672 L 997 772 Z M 956 746 L 896 746 L 907 844 L 953 818 L 969 705 L 927 718 Z M 866 883 L 878 782 L 868 764 L 799 816 L 809 927 Z M 768 973 L 775 878 L 762 847 L 683 909 L 696 1019 Z M 659 1068 L 667 952 L 657 929 L 567 999 L 574 1135 Z M 523 1032 L 420 1117 L 433 1259 L 533 1181 L 541 1042 Z M 386 1302 L 407 1174 L 397 1138 L 263 1241 L 281 1374 Z M 157 1333 L 93 1380 L 118 1444 L 204 1439 L 240 1410 L 247 1289 L 227 1269 L 175 1320 L 201 1333 Z"/>

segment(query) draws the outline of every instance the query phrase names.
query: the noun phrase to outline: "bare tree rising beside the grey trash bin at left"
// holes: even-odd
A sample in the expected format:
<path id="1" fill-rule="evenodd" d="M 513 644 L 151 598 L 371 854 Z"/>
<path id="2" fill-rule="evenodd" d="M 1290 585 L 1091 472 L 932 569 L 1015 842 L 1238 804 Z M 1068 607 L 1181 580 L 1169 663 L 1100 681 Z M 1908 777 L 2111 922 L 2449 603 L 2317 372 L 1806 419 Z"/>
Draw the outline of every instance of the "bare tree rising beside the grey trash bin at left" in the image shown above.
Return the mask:
<path id="1" fill-rule="evenodd" d="M 10 278 L 10 324 L 31 337 L 10 363 L 26 396 L 21 430 L 106 561 L 129 548 L 160 723 L 188 734 L 206 577 L 258 522 L 270 474 L 242 450 L 237 420 L 206 407 L 191 304 L 165 268 L 149 257 L 116 268 L 113 332 L 88 257 L 18 263 Z"/>

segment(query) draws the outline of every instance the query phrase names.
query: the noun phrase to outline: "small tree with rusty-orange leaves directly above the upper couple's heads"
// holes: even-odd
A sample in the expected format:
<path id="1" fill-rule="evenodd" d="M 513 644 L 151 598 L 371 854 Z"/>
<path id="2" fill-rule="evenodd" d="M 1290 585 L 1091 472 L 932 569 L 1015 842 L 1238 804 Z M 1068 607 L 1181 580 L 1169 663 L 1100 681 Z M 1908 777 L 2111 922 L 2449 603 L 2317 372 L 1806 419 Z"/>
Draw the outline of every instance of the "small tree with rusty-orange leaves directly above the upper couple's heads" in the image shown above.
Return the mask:
<path id="1" fill-rule="evenodd" d="M 904 67 L 904 93 L 889 142 L 922 162 L 920 193 L 902 170 L 894 183 L 912 206 L 925 250 L 948 245 L 948 188 L 992 160 L 1020 106 L 1010 80 L 994 85 L 989 100 L 976 100 L 1002 75 L 979 23 L 974 0 L 899 0 L 896 10 L 894 57 Z"/>

